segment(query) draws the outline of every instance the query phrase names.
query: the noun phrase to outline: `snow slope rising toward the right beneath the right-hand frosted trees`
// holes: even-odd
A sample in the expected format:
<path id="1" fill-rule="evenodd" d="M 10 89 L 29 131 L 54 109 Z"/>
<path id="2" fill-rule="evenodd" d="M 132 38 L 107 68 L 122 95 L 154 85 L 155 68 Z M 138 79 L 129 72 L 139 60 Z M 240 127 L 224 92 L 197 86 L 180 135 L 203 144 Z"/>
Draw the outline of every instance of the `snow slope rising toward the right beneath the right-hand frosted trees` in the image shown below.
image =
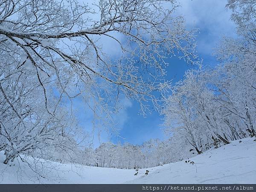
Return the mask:
<path id="1" fill-rule="evenodd" d="M 239 141 L 242 141 L 239 143 Z M 128 183 L 256 183 L 256 142 L 246 138 L 185 160 L 148 169 Z"/>

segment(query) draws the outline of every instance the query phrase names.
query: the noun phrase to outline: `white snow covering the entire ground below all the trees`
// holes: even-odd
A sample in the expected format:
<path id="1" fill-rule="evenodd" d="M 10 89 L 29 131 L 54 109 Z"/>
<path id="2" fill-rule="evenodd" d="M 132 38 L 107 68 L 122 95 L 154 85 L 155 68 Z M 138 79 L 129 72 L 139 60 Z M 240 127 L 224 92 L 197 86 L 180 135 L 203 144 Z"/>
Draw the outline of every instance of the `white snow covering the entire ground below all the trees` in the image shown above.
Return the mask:
<path id="1" fill-rule="evenodd" d="M 239 143 L 239 141 L 241 141 Z M 0 152 L 0 183 L 38 183 L 29 167 L 20 162 L 14 166 L 3 164 Z M 134 169 L 109 169 L 88 166 L 60 164 L 55 171 L 41 178 L 41 183 L 256 183 L 256 142 L 252 138 L 236 140 L 220 148 L 185 160 L 140 169 L 134 176 Z M 18 169 L 21 167 L 22 169 Z M 53 180 L 54 179 L 54 180 Z"/>

